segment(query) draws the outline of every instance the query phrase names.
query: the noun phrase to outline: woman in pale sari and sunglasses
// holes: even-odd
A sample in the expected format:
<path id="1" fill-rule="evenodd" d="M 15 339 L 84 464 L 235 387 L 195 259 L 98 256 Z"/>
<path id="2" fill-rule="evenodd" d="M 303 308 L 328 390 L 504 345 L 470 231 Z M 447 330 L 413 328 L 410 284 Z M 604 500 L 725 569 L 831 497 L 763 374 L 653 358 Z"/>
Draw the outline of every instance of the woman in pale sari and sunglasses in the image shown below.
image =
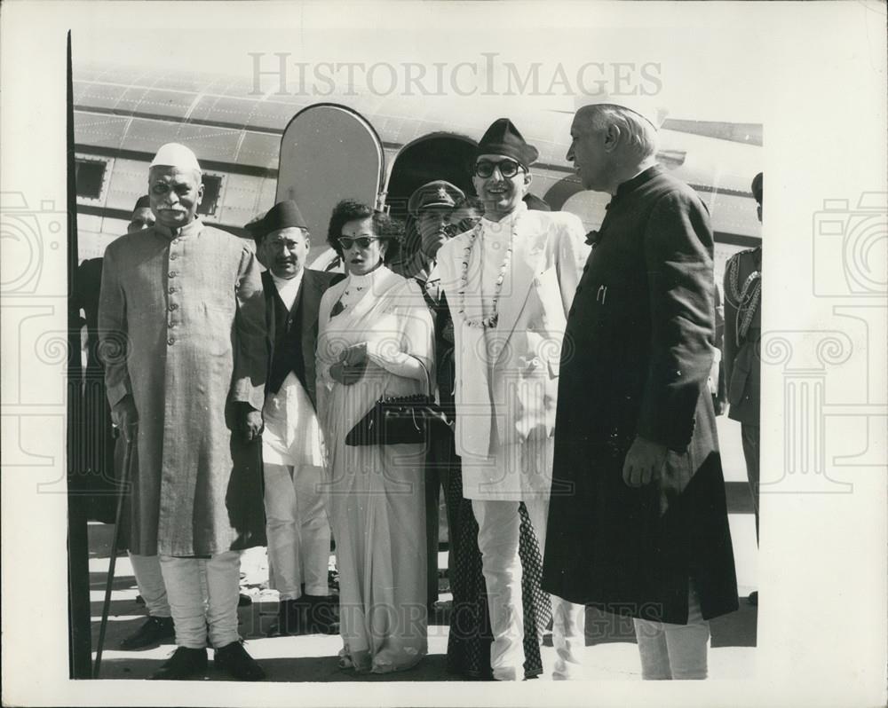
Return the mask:
<path id="1" fill-rule="evenodd" d="M 399 237 L 385 214 L 340 202 L 328 240 L 348 276 L 323 295 L 319 317 L 318 414 L 337 543 L 340 665 L 370 673 L 408 669 L 427 650 L 425 446 L 345 444 L 379 397 L 423 393 L 433 377 L 423 296 L 385 267 Z"/>

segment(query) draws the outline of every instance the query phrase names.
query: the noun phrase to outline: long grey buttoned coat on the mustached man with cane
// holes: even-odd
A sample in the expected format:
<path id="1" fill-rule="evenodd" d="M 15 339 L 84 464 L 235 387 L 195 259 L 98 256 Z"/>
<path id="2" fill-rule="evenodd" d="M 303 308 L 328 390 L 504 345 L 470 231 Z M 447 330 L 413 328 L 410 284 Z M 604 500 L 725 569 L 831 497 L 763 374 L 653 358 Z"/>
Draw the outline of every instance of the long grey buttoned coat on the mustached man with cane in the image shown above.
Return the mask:
<path id="1" fill-rule="evenodd" d="M 260 444 L 234 404 L 262 410 L 265 299 L 251 244 L 200 220 L 157 224 L 105 252 L 99 339 L 108 403 L 139 413 L 130 549 L 206 556 L 265 544 Z"/>

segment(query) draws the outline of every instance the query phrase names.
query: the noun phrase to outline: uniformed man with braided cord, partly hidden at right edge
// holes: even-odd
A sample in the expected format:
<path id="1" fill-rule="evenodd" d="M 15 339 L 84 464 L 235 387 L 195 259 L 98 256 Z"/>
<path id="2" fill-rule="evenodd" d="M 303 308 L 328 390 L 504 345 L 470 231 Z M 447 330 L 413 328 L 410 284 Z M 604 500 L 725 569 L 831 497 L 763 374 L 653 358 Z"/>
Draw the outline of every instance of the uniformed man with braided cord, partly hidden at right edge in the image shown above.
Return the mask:
<path id="1" fill-rule="evenodd" d="M 762 220 L 763 177 L 752 180 L 758 221 Z M 725 264 L 725 379 L 728 417 L 741 424 L 743 457 L 756 512 L 758 541 L 759 415 L 761 409 L 762 247 L 734 254 Z M 749 594 L 758 604 L 758 592 Z"/>

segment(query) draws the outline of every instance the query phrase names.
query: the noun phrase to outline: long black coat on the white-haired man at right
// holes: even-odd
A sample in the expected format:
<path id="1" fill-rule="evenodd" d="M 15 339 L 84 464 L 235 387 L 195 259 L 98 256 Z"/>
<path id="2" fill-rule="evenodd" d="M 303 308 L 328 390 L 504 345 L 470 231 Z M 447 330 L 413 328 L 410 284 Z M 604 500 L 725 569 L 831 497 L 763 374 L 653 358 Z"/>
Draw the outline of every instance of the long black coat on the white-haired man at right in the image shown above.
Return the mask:
<path id="1" fill-rule="evenodd" d="M 696 193 L 660 166 L 624 183 L 583 269 L 561 358 L 543 589 L 686 624 L 737 609 L 716 421 L 713 239 Z M 668 448 L 662 477 L 622 481 L 636 436 Z"/>

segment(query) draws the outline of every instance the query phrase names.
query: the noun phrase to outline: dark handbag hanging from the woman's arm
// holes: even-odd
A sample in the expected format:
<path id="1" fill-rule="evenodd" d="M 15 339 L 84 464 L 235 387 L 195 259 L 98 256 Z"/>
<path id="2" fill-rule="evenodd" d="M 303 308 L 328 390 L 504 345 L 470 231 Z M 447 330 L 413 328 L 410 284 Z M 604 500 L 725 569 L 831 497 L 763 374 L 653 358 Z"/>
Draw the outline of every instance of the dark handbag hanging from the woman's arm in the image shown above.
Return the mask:
<path id="1" fill-rule="evenodd" d="M 447 416 L 432 397 L 432 376 L 425 368 L 429 394 L 381 397 L 369 413 L 345 436 L 347 445 L 393 445 L 425 443 L 452 435 Z"/>

